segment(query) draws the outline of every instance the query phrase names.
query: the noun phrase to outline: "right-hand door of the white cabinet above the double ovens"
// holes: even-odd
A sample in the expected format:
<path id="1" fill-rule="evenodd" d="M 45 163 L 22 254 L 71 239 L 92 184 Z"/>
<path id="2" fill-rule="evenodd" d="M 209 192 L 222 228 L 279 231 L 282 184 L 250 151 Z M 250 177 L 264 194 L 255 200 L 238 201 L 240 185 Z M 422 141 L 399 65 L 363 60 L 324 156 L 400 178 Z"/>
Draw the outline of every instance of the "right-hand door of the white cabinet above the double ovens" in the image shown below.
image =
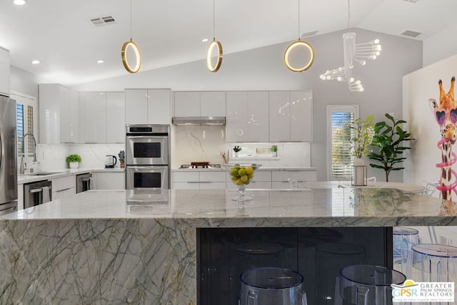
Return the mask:
<path id="1" fill-rule="evenodd" d="M 148 90 L 148 123 L 164 124 L 171 123 L 171 90 L 149 89 Z"/>

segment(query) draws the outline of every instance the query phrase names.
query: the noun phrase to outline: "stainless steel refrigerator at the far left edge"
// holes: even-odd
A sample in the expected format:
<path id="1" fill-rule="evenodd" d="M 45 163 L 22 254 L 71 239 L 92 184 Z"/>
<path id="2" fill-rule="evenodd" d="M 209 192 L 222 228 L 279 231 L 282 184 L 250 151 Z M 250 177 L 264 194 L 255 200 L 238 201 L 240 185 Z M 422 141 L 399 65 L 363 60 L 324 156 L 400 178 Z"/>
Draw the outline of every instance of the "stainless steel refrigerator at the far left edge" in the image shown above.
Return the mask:
<path id="1" fill-rule="evenodd" d="M 0 215 L 16 210 L 16 100 L 0 95 Z"/>

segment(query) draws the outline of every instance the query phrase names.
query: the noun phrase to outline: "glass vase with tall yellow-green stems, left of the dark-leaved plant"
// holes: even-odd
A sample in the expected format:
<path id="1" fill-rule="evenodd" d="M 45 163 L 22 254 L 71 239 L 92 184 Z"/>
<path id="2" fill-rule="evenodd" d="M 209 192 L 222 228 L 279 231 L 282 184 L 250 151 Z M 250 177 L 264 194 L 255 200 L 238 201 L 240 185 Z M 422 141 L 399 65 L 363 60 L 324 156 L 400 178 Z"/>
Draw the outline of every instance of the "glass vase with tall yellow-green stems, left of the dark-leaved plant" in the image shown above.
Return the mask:
<path id="1" fill-rule="evenodd" d="M 373 115 L 368 115 L 365 120 L 357 118 L 351 123 L 351 128 L 356 131 L 355 136 L 349 139 L 351 151 L 356 157 L 353 163 L 353 185 L 366 185 L 366 166 L 362 157 L 368 155 L 368 146 L 374 136 Z"/>

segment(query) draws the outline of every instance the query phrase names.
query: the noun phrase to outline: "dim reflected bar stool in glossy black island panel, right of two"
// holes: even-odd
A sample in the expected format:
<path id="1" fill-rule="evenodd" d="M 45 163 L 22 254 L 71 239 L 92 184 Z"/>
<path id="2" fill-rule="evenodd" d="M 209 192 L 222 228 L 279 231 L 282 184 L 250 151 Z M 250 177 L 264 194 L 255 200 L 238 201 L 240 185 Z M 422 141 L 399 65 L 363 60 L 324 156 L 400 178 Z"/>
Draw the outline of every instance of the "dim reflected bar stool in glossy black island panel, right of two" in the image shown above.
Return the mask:
<path id="1" fill-rule="evenodd" d="M 341 268 L 366 262 L 359 244 L 331 242 L 316 247 L 316 304 L 333 304 L 335 280 Z"/>

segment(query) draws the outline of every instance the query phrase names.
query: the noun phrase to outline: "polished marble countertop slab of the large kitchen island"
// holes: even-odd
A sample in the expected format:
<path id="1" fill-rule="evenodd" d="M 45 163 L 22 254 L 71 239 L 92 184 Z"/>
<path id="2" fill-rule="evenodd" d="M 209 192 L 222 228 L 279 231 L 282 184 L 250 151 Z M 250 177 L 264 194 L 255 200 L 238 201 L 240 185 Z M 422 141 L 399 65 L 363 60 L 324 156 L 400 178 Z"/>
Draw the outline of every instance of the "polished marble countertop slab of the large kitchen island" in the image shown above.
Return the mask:
<path id="1" fill-rule="evenodd" d="M 0 219 L 154 218 L 204 220 L 205 226 L 456 225 L 454 202 L 389 188 L 247 190 L 92 190 Z"/>

